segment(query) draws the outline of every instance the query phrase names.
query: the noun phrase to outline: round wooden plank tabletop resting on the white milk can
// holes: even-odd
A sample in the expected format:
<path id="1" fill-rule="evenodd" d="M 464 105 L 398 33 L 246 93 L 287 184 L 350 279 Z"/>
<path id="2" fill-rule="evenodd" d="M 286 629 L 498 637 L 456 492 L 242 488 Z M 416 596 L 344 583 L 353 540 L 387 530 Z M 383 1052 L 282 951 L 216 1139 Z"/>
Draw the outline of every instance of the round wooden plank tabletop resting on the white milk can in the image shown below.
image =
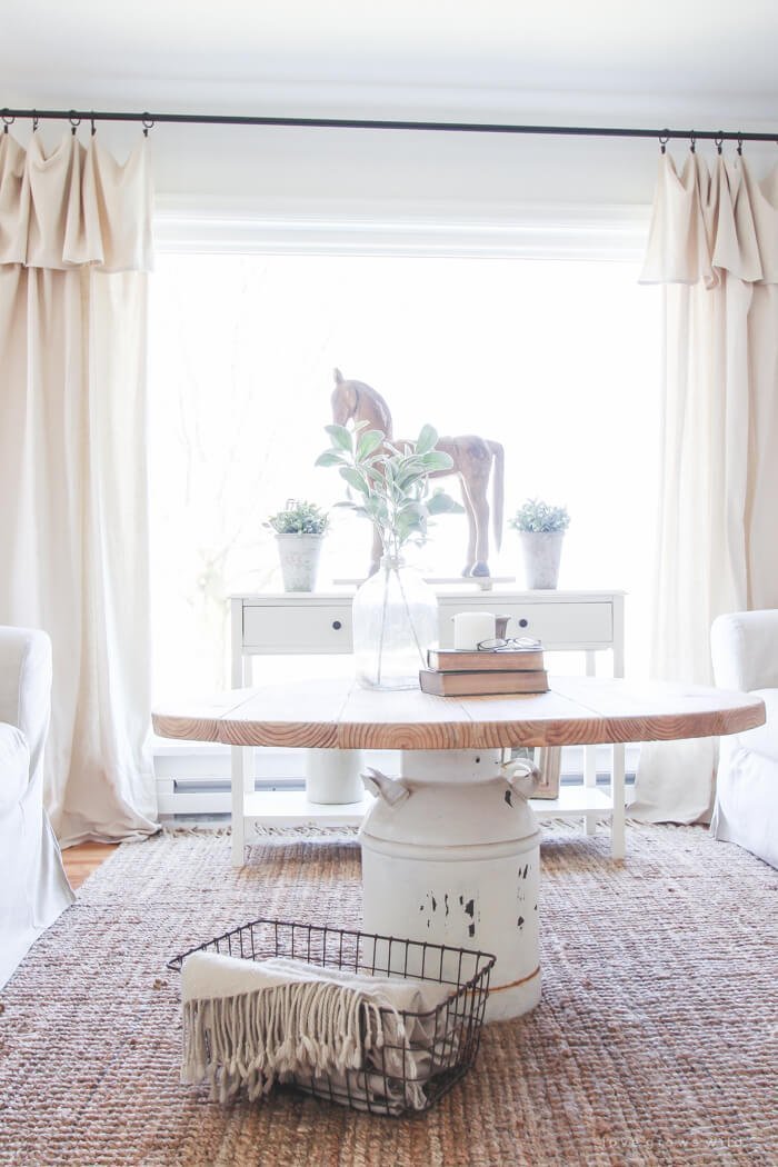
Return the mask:
<path id="1" fill-rule="evenodd" d="M 323 749 L 496 749 L 667 741 L 764 724 L 749 693 L 670 683 L 552 677 L 547 693 L 432 697 L 332 678 L 233 690 L 153 714 L 162 738 Z"/>

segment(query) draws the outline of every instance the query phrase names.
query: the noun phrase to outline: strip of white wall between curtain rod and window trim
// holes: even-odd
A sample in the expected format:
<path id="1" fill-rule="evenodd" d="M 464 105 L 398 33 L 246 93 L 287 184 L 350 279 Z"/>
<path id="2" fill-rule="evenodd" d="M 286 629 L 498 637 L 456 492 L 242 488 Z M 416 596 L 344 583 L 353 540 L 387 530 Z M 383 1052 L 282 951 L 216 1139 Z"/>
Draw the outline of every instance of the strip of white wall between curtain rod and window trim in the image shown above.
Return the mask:
<path id="1" fill-rule="evenodd" d="M 152 131 L 166 194 L 323 200 L 646 203 L 658 147 L 633 140 L 394 131 Z"/>

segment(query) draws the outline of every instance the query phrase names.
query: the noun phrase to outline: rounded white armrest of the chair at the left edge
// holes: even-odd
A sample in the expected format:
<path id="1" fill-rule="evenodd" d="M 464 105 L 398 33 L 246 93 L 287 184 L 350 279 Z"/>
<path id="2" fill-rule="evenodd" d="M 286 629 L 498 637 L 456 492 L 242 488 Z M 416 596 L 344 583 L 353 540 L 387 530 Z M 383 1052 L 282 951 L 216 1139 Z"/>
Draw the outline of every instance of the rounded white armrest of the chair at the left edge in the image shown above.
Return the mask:
<path id="1" fill-rule="evenodd" d="M 51 713 L 51 641 L 33 628 L 0 627 L 0 721 L 24 734 L 30 778 L 43 757 Z"/>

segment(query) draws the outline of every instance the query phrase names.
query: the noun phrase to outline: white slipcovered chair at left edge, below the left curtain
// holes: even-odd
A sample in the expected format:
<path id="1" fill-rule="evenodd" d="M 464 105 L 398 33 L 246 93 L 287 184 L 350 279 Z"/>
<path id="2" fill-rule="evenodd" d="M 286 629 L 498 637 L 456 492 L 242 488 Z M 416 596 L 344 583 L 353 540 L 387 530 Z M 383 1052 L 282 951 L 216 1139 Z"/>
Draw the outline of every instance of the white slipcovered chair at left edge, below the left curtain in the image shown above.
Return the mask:
<path id="1" fill-rule="evenodd" d="M 75 896 L 43 809 L 51 642 L 0 627 L 0 987 Z"/>

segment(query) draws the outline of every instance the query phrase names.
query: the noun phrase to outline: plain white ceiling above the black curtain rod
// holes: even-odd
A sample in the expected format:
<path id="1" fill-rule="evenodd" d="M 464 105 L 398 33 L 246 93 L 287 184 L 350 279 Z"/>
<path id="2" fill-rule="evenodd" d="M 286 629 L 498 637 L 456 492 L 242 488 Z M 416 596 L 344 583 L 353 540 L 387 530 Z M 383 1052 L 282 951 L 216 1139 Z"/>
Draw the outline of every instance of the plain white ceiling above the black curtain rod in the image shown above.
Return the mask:
<path id="1" fill-rule="evenodd" d="M 778 121 L 777 50 L 777 0 L 5 0 L 0 106 L 745 130 Z"/>

